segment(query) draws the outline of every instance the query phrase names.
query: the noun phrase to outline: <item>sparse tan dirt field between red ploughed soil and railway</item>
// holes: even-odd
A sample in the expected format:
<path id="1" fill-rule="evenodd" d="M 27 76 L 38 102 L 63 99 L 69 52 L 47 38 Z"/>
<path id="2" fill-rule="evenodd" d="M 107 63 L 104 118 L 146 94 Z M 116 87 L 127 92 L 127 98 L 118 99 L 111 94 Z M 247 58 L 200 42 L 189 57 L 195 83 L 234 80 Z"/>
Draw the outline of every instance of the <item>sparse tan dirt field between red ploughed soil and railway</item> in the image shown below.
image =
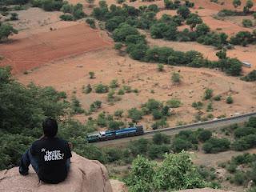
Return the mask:
<path id="1" fill-rule="evenodd" d="M 170 74 L 180 70 L 182 84 L 174 86 L 170 81 Z M 94 71 L 94 79 L 89 78 L 89 71 Z M 58 74 L 56 76 L 55 74 Z M 118 79 L 122 85 L 131 86 L 139 90 L 138 94 L 125 94 L 122 100 L 110 105 L 107 102 L 106 94 L 82 94 L 82 86 L 91 84 L 92 86 L 103 82 L 109 84 L 111 80 Z M 170 126 L 175 126 L 178 122 L 192 122 L 197 113 L 191 107 L 191 103 L 202 101 L 202 95 L 206 87 L 214 90 L 214 94 L 222 94 L 226 98 L 228 94 L 234 97 L 234 104 L 227 105 L 225 100 L 214 102 L 214 117 L 226 114 L 227 117 L 234 113 L 249 112 L 254 110 L 256 99 L 256 85 L 250 82 L 242 82 L 238 78 L 228 77 L 222 72 L 209 69 L 194 69 L 188 67 L 166 66 L 165 72 L 158 72 L 156 64 L 136 62 L 127 56 L 118 56 L 114 50 L 98 50 L 75 58 L 66 58 L 54 65 L 42 66 L 33 73 L 19 75 L 18 80 L 25 84 L 35 82 L 42 86 L 54 86 L 58 90 L 65 90 L 72 95 L 76 90 L 76 95 L 82 106 L 88 110 L 90 104 L 95 100 L 103 102 L 102 110 L 113 114 L 115 110 L 129 110 L 131 107 L 140 107 L 149 98 L 160 101 L 167 101 L 170 98 L 180 98 L 182 107 L 174 110 L 175 115 L 169 119 Z M 154 90 L 154 94 L 152 94 Z M 244 99 L 246 98 L 246 100 Z M 205 104 L 206 108 L 207 102 Z M 98 113 L 92 115 L 97 117 Z M 207 113 L 205 113 L 206 115 Z M 77 117 L 82 122 L 88 117 L 79 115 Z M 126 118 L 123 118 L 127 121 Z M 150 128 L 153 123 L 151 117 L 143 118 L 141 122 L 145 127 Z"/>

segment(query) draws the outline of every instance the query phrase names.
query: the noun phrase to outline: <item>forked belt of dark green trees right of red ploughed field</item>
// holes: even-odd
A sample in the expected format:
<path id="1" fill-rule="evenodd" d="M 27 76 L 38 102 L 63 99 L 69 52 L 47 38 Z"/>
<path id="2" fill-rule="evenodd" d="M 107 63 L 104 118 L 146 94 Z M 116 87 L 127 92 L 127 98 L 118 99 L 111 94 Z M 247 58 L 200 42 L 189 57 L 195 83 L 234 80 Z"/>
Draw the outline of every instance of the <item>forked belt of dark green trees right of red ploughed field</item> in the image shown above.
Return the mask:
<path id="1" fill-rule="evenodd" d="M 155 7 L 155 6 L 154 6 Z M 152 47 L 146 43 L 144 35 L 139 34 L 136 28 L 149 29 L 153 38 L 166 38 L 178 41 L 196 41 L 206 45 L 222 47 L 225 45 L 226 34 L 214 34 L 206 24 L 201 23 L 197 14 L 187 14 L 187 6 L 179 6 L 180 15 L 162 15 L 157 20 L 155 9 L 141 6 L 138 9 L 133 6 L 122 7 L 100 2 L 99 7 L 94 8 L 93 15 L 98 20 L 106 22 L 106 29 L 112 32 L 112 38 L 121 46 L 126 47 L 126 53 L 135 60 L 144 62 L 158 62 L 168 65 L 220 68 L 230 75 L 239 75 L 242 71 L 242 63 L 234 58 L 222 59 L 218 62 L 210 62 L 197 51 L 175 51 L 169 47 Z M 185 10 L 185 11 L 184 11 Z M 184 14 L 185 13 L 185 14 Z M 189 19 L 191 29 L 178 32 L 177 26 L 182 25 L 184 19 Z M 201 23 L 201 24 L 200 24 Z"/>

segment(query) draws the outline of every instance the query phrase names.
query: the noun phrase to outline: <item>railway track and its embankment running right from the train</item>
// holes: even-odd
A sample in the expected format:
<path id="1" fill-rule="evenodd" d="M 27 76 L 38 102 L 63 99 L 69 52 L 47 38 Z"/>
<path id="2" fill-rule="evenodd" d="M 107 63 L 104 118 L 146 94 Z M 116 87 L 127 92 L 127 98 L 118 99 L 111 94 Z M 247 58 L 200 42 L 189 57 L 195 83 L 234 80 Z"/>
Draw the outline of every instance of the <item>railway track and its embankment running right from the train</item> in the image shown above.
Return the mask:
<path id="1" fill-rule="evenodd" d="M 175 127 L 169 127 L 161 130 L 149 130 L 146 131 L 145 134 L 130 138 L 118 138 L 114 140 L 109 140 L 105 142 L 96 142 L 94 145 L 96 146 L 122 146 L 122 144 L 125 144 L 130 141 L 138 140 L 139 138 L 152 138 L 154 134 L 156 133 L 163 133 L 167 135 L 172 134 L 178 134 L 181 130 L 197 130 L 198 128 L 203 128 L 206 130 L 214 129 L 214 128 L 222 128 L 226 126 L 233 125 L 235 123 L 242 123 L 248 121 L 250 117 L 256 117 L 256 112 L 252 112 L 249 114 L 241 114 L 230 118 L 220 118 L 216 120 L 211 120 L 207 122 L 197 122 L 190 125 L 185 126 L 175 126 Z"/>

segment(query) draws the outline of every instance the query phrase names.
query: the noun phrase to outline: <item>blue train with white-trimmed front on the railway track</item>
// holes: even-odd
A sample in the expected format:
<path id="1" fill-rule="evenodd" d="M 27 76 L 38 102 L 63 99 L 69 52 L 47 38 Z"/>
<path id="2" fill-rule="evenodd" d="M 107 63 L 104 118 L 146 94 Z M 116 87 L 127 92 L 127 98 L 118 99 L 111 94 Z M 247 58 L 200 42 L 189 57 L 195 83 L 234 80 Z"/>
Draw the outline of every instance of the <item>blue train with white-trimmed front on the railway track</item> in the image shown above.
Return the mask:
<path id="1" fill-rule="evenodd" d="M 106 130 L 88 134 L 87 142 L 102 142 L 116 138 L 126 138 L 144 134 L 143 126 L 128 127 L 120 130 Z"/>

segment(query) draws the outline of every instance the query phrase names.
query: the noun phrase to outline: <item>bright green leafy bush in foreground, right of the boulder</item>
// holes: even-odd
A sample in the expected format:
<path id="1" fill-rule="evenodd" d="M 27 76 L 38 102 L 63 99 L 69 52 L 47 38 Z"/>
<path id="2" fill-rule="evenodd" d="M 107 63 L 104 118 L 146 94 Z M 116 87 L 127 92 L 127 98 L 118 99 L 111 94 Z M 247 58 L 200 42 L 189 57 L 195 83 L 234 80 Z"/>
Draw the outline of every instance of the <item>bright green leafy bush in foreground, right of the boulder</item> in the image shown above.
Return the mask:
<path id="1" fill-rule="evenodd" d="M 186 177 L 184 177 L 186 175 Z M 139 155 L 125 180 L 130 191 L 174 191 L 210 186 L 186 152 L 166 154 L 161 165 Z"/>

